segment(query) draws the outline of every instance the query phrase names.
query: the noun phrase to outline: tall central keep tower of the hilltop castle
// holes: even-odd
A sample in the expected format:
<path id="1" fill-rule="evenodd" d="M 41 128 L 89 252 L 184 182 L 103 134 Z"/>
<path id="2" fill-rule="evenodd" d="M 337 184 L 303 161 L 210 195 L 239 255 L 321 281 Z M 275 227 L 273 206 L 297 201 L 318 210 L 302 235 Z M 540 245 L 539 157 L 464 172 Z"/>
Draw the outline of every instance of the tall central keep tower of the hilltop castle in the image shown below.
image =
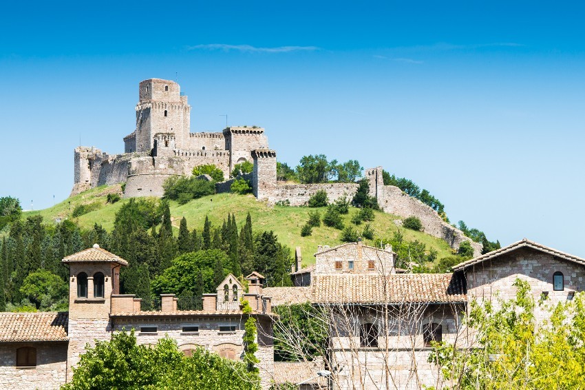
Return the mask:
<path id="1" fill-rule="evenodd" d="M 158 133 L 174 134 L 175 145 L 185 148 L 189 142 L 191 106 L 182 96 L 178 83 L 148 79 L 140 82 L 136 105 L 135 136 L 124 138 L 125 152 L 149 153 Z"/>

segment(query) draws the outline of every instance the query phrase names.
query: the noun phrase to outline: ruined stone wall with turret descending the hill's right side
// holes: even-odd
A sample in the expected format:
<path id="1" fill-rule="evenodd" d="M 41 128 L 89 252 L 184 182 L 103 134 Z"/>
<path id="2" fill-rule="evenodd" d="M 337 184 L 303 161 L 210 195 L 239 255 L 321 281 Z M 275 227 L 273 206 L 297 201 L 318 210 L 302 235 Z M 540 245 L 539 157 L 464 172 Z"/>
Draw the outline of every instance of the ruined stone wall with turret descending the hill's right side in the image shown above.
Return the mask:
<path id="1" fill-rule="evenodd" d="M 459 229 L 446 223 L 432 207 L 405 194 L 394 185 L 384 185 L 382 167 L 365 170 L 365 177 L 370 181 L 370 195 L 378 198 L 378 204 L 384 212 L 404 218 L 416 216 L 423 223 L 425 233 L 442 238 L 454 249 L 457 249 L 463 241 L 468 241 L 474 248 L 474 256 L 480 256 L 482 245 L 475 243 Z"/>

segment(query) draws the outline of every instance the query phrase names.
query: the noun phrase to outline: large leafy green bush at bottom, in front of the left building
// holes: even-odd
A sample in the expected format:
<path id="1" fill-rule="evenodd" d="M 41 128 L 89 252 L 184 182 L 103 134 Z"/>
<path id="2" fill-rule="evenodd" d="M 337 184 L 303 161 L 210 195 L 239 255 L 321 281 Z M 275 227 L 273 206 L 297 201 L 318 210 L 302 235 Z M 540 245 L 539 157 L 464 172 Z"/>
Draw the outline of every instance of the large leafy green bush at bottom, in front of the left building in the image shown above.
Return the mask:
<path id="1" fill-rule="evenodd" d="M 168 336 L 153 347 L 137 345 L 134 330 L 85 348 L 63 390 L 77 389 L 259 389 L 257 373 L 246 365 L 195 349 L 187 357 Z"/>

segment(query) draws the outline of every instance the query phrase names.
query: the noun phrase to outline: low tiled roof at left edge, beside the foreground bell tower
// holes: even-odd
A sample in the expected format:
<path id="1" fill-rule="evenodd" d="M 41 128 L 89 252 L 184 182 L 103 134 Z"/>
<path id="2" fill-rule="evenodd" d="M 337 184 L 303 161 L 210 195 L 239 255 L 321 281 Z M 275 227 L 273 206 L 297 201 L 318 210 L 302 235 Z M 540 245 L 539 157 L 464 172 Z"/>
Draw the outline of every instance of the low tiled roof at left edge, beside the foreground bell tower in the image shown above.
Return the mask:
<path id="1" fill-rule="evenodd" d="M 0 313 L 0 342 L 67 341 L 67 311 Z"/>

